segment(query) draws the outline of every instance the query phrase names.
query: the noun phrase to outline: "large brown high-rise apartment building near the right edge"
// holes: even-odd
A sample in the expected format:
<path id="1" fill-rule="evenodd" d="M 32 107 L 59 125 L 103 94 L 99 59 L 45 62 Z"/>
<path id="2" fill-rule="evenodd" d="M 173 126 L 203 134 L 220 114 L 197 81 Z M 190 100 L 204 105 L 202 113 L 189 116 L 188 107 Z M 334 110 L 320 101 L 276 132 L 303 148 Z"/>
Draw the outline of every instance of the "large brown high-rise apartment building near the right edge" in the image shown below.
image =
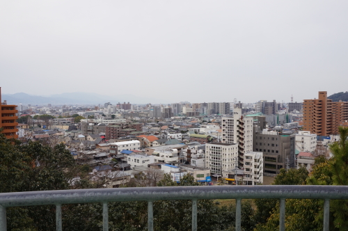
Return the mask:
<path id="1" fill-rule="evenodd" d="M 332 102 L 326 91 L 318 99 L 303 100 L 303 130 L 318 136 L 338 134 L 338 127 L 348 120 L 348 102 Z"/>

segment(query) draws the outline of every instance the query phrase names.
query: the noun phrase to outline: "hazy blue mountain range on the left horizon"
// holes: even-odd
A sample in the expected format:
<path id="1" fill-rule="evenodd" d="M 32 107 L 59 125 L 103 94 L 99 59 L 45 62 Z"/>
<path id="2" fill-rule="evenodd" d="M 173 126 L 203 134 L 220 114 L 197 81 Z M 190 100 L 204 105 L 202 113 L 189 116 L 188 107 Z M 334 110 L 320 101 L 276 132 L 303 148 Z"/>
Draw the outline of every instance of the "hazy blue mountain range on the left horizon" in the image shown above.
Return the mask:
<path id="1" fill-rule="evenodd" d="M 104 104 L 111 102 L 111 104 L 117 104 L 118 102 L 130 102 L 131 104 L 158 104 L 164 103 L 159 102 L 157 98 L 150 97 L 139 97 L 136 95 L 99 95 L 96 93 L 62 93 L 59 95 L 40 96 L 40 95 L 29 95 L 26 93 L 15 93 L 15 94 L 3 94 L 1 95 L 2 100 L 7 100 L 8 104 Z"/>

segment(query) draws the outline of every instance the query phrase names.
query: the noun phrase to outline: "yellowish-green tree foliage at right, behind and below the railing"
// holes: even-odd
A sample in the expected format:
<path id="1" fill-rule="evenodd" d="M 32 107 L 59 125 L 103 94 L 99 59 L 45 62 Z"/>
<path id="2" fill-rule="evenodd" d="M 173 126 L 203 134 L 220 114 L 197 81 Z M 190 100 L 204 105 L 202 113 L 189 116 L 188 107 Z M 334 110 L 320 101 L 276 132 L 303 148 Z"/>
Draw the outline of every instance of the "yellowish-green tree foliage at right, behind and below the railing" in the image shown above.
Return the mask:
<path id="1" fill-rule="evenodd" d="M 340 141 L 331 144 L 330 150 L 333 154 L 331 159 L 326 159 L 320 155 L 315 159 L 315 165 L 312 172 L 303 181 L 306 176 L 304 170 L 298 174 L 283 172 L 276 177 L 276 184 L 287 184 L 289 182 L 298 182 L 301 184 L 312 185 L 348 185 L 348 128 L 340 127 Z M 296 176 L 298 175 L 298 176 Z M 256 202 L 257 204 L 258 202 Z M 263 215 L 265 223 L 258 223 L 255 230 L 277 230 L 279 226 L 279 203 L 264 206 L 262 202 L 258 205 L 258 213 Z M 263 204 L 267 205 L 267 204 Z M 259 207 L 260 206 L 260 207 Z M 288 199 L 285 202 L 285 229 L 286 230 L 322 230 L 324 216 L 323 200 L 308 199 Z M 273 207 L 273 208 L 271 208 Z M 268 210 L 270 216 L 262 214 Z M 260 212 L 259 212 L 260 210 Z M 262 211 L 262 212 L 261 212 Z M 260 221 L 260 220 L 259 220 Z M 329 214 L 330 230 L 348 230 L 348 201 L 331 200 Z"/>

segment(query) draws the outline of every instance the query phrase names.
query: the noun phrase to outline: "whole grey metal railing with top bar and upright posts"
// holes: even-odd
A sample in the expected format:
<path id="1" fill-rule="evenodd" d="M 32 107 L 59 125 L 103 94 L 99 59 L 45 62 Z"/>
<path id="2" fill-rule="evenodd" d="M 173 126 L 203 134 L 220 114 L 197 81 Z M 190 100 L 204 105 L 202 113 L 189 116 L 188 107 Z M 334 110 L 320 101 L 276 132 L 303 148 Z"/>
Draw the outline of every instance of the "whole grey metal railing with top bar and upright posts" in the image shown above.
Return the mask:
<path id="1" fill-rule="evenodd" d="M 236 199 L 235 228 L 241 230 L 242 199 L 278 198 L 279 230 L 285 230 L 285 199 L 324 199 L 324 231 L 329 231 L 330 200 L 348 199 L 348 186 L 171 186 L 122 189 L 75 189 L 0 193 L 0 231 L 6 231 L 6 207 L 56 205 L 56 230 L 62 230 L 63 204 L 101 202 L 103 230 L 109 230 L 108 202 L 148 201 L 148 230 L 152 231 L 153 202 L 192 200 L 192 230 L 197 230 L 197 200 Z"/>

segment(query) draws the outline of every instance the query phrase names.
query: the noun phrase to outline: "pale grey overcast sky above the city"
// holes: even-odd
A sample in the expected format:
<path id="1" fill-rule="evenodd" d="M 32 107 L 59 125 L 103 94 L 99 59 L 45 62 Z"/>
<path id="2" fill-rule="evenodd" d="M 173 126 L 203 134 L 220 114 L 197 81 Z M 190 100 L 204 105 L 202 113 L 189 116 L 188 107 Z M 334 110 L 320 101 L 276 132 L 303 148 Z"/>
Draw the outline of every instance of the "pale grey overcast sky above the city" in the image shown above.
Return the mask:
<path id="1" fill-rule="evenodd" d="M 290 102 L 348 90 L 348 1 L 1 1 L 2 93 Z"/>

